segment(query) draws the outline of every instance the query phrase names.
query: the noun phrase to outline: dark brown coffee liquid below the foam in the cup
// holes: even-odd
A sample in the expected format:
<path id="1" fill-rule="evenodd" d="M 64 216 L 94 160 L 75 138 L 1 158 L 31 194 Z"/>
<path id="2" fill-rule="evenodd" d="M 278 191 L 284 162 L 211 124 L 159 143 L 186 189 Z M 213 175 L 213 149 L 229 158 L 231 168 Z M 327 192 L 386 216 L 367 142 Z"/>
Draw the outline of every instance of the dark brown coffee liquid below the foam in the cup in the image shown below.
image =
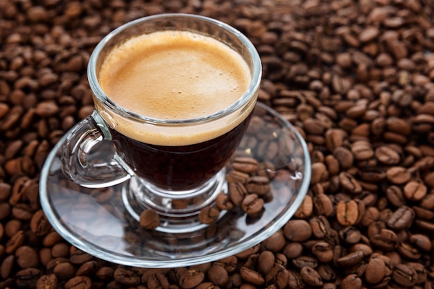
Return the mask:
<path id="1" fill-rule="evenodd" d="M 225 166 L 241 142 L 250 116 L 229 132 L 189 146 L 154 146 L 111 130 L 119 156 L 132 170 L 162 189 L 188 190 Z"/>

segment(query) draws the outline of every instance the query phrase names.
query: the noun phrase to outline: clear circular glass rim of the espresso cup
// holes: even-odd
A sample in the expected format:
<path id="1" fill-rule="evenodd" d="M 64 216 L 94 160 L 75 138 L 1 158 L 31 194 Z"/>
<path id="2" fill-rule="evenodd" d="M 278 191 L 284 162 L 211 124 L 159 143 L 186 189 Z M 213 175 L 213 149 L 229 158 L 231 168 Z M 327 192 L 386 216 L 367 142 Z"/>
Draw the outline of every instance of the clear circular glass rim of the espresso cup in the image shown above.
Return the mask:
<path id="1" fill-rule="evenodd" d="M 236 100 L 228 107 L 225 107 L 223 110 L 215 112 L 214 114 L 209 114 L 207 116 L 200 116 L 193 119 L 179 119 L 179 120 L 157 119 L 149 116 L 142 116 L 141 114 L 137 114 L 135 112 L 131 112 L 130 110 L 126 110 L 124 107 L 121 107 L 120 105 L 114 103 L 114 101 L 111 100 L 101 88 L 101 85 L 99 84 L 98 78 L 96 76 L 96 62 L 98 60 L 98 55 L 100 55 L 101 51 L 104 49 L 106 44 L 110 42 L 110 40 L 112 40 L 112 38 L 114 38 L 116 35 L 119 35 L 119 33 L 122 33 L 123 30 L 128 29 L 131 26 L 134 26 L 136 24 L 142 23 L 144 21 L 152 21 L 154 19 L 164 19 L 164 18 L 170 19 L 173 17 L 198 19 L 200 21 L 205 21 L 210 24 L 214 24 L 216 26 L 219 26 L 220 28 L 229 31 L 229 33 L 232 33 L 233 35 L 238 37 L 238 40 L 240 40 L 241 43 L 245 46 L 246 51 L 252 58 L 252 80 L 250 81 L 248 88 L 244 91 L 243 95 L 240 98 L 238 98 L 238 100 Z M 185 123 L 203 123 L 214 119 L 219 119 L 223 116 L 227 116 L 228 114 L 236 110 L 239 110 L 241 107 L 243 107 L 243 105 L 245 105 L 251 100 L 252 94 L 255 94 L 256 91 L 259 89 L 261 76 L 262 76 L 261 59 L 259 57 L 259 53 L 257 52 L 257 49 L 254 47 L 254 44 L 252 44 L 252 42 L 248 39 L 248 37 L 246 37 L 243 33 L 241 33 L 236 28 L 229 26 L 228 24 L 225 24 L 223 21 L 219 21 L 217 19 L 205 17 L 202 15 L 193 15 L 193 14 L 186 14 L 186 13 L 164 13 L 158 15 L 150 15 L 146 17 L 141 17 L 139 19 L 135 19 L 133 21 L 130 21 L 126 24 L 119 26 L 118 28 L 112 30 L 110 33 L 105 35 L 105 37 L 103 37 L 103 39 L 96 45 L 94 51 L 92 51 L 92 54 L 90 55 L 89 64 L 87 65 L 87 78 L 89 81 L 90 88 L 92 89 L 92 93 L 94 94 L 94 96 L 98 99 L 98 101 L 101 104 L 103 104 L 105 107 L 108 107 L 112 112 L 119 114 L 127 119 L 131 119 L 133 121 L 141 121 L 144 123 L 153 123 L 153 124 L 162 124 L 162 125 L 164 124 L 182 125 Z"/>

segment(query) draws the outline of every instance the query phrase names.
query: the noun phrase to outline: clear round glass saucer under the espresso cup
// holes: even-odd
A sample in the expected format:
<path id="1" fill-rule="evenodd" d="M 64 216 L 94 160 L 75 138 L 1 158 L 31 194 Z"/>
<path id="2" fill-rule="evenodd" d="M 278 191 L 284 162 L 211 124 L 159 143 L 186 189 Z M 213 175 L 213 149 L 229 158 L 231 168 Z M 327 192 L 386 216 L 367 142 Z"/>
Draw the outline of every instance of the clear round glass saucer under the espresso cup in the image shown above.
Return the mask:
<path id="1" fill-rule="evenodd" d="M 46 217 L 71 245 L 99 259 L 146 268 L 175 268 L 223 259 L 261 243 L 283 227 L 309 189 L 311 161 L 297 130 L 261 103 L 234 157 L 254 157 L 264 164 L 271 191 L 260 216 L 241 209 L 222 211 L 211 225 L 174 233 L 139 226 L 128 200 L 133 177 L 116 186 L 89 189 L 73 183 L 61 168 L 66 134 L 42 168 L 40 200 Z M 110 142 L 101 141 L 95 161 L 111 159 Z M 103 153 L 101 153 L 103 152 Z M 92 155 L 92 152 L 91 152 Z M 232 171 L 232 160 L 226 173 Z M 103 162 L 104 163 L 104 162 Z M 227 186 L 222 189 L 227 193 Z"/>

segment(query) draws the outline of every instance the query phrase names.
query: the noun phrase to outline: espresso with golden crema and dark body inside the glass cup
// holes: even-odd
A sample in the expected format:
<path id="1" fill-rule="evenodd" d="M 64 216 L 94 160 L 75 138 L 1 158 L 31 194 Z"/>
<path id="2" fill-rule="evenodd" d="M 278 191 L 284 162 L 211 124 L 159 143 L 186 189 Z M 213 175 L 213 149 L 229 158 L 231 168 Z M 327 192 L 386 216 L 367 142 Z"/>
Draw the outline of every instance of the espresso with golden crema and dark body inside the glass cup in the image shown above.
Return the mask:
<path id="1" fill-rule="evenodd" d="M 225 44 L 190 32 L 164 31 L 128 40 L 98 74 L 105 94 L 129 112 L 153 119 L 208 116 L 236 102 L 250 85 L 248 64 Z M 223 168 L 250 121 L 256 95 L 233 114 L 199 125 L 128 121 L 100 111 L 119 156 L 162 189 L 187 190 Z"/>

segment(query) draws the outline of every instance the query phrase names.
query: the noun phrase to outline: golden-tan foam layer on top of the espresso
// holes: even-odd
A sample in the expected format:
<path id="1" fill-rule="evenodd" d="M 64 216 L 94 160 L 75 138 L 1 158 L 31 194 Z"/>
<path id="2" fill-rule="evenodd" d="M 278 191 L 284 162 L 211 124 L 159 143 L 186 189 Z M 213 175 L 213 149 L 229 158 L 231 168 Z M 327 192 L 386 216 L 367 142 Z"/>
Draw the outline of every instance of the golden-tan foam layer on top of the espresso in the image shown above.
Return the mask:
<path id="1" fill-rule="evenodd" d="M 193 119 L 225 109 L 250 84 L 250 69 L 241 55 L 214 40 L 186 31 L 162 31 L 134 37 L 116 47 L 98 74 L 105 94 L 130 112 L 155 119 Z M 213 139 L 241 123 L 229 117 L 198 127 L 152 130 L 112 115 L 115 130 L 132 139 L 180 146 Z M 104 116 L 103 116 L 104 117 Z M 176 131 L 175 131 L 176 130 Z M 182 132 L 183 131 L 183 132 Z M 182 135 L 177 132 L 182 132 Z"/>

